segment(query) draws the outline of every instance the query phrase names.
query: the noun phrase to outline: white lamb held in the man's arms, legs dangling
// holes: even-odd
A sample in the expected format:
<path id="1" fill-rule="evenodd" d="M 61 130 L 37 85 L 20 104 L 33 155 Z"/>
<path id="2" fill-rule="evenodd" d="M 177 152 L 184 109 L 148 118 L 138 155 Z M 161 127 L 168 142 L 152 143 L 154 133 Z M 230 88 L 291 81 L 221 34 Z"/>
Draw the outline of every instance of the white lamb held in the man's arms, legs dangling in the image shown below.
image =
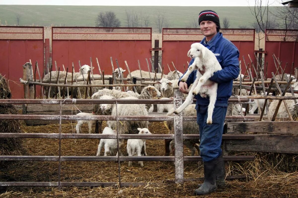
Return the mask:
<path id="1" fill-rule="evenodd" d="M 214 110 L 214 105 L 217 96 L 217 86 L 218 84 L 209 80 L 214 72 L 221 70 L 221 65 L 219 64 L 217 58 L 207 47 L 204 47 L 201 43 L 193 43 L 190 46 L 190 50 L 187 53 L 190 58 L 195 58 L 195 61 L 187 69 L 187 72 L 182 77 L 181 81 L 186 82 L 190 73 L 197 69 L 197 74 L 193 86 L 189 91 L 184 103 L 174 111 L 174 113 L 181 113 L 189 104 L 193 103 L 194 95 L 200 94 L 201 97 L 209 96 L 208 105 L 208 117 L 207 124 L 212 124 L 212 114 Z M 204 72 L 202 75 L 201 72 Z"/>

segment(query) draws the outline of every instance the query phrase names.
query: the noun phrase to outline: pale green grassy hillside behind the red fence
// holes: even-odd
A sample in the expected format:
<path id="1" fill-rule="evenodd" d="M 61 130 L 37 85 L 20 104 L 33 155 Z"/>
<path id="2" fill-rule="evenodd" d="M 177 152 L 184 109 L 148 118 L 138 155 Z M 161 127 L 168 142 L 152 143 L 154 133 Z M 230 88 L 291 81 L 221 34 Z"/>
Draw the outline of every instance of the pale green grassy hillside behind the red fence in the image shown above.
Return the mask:
<path id="1" fill-rule="evenodd" d="M 127 26 L 126 11 L 137 15 L 149 15 L 149 26 L 156 29 L 157 13 L 164 13 L 169 28 L 193 28 L 198 13 L 204 9 L 215 10 L 221 23 L 224 18 L 230 20 L 229 28 L 252 27 L 255 19 L 250 11 L 254 7 L 178 7 L 178 6 L 49 6 L 49 5 L 1 5 L 0 24 L 19 26 L 95 26 L 98 13 L 115 12 L 121 26 Z M 270 7 L 275 9 L 275 7 Z"/>

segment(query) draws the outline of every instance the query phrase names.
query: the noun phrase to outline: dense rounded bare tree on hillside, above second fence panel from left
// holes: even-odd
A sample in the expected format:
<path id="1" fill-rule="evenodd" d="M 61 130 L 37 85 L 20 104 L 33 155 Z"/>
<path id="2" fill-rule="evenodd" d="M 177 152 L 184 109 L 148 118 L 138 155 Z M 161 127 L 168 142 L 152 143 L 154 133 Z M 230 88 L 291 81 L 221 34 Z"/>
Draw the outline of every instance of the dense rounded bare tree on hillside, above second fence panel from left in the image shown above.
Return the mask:
<path id="1" fill-rule="evenodd" d="M 95 21 L 96 27 L 119 27 L 120 21 L 116 17 L 114 12 L 107 11 L 105 13 L 100 12 L 97 15 L 97 19 Z"/>

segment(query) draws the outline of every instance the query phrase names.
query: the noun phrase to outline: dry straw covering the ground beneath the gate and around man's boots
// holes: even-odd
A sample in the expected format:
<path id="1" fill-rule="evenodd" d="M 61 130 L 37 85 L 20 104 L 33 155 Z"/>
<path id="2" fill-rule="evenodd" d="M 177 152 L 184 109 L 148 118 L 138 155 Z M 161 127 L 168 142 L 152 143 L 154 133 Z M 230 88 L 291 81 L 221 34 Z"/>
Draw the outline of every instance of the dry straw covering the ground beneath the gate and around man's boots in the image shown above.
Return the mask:
<path id="1" fill-rule="evenodd" d="M 62 133 L 71 133 L 74 123 L 62 125 Z M 105 127 L 105 121 L 103 122 Z M 59 125 L 22 125 L 24 132 L 58 133 Z M 82 127 L 88 133 L 88 127 Z M 167 134 L 162 122 L 149 126 L 153 134 Z M 94 156 L 97 139 L 62 139 L 61 155 Z M 25 139 L 24 147 L 28 155 L 58 155 L 57 139 Z M 147 140 L 148 155 L 163 156 L 164 140 Z M 125 146 L 124 146 L 125 147 Z M 127 155 L 125 148 L 123 154 Z M 190 155 L 184 148 L 185 155 Z M 229 152 L 229 155 L 254 155 L 254 161 L 229 161 L 226 163 L 228 175 L 245 175 L 246 179 L 227 180 L 226 187 L 218 188 L 212 197 L 298 197 L 297 156 L 278 153 Z M 120 163 L 121 182 L 156 182 L 158 185 L 139 187 L 8 187 L 0 197 L 196 197 L 193 190 L 201 181 L 188 181 L 183 185 L 173 183 L 175 166 L 170 161 L 144 161 L 143 168 L 134 162 Z M 1 170 L 0 170 L 1 171 Z M 1 175 L 1 174 L 0 174 Z M 5 170 L 5 175 L 15 181 L 58 181 L 58 162 L 23 161 Z M 184 162 L 184 178 L 203 177 L 203 167 L 197 162 Z M 0 178 L 1 181 L 1 178 Z M 68 182 L 118 182 L 118 163 L 109 161 L 63 161 L 61 162 L 61 181 Z M 210 197 L 210 196 L 202 196 Z"/>

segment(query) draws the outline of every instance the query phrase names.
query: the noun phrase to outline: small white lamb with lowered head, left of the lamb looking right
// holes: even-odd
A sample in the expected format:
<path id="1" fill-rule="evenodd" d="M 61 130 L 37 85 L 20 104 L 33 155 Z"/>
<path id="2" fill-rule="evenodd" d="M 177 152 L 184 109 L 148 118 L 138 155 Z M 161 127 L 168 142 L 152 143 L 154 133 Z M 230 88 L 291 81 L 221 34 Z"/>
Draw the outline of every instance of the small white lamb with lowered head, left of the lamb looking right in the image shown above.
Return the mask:
<path id="1" fill-rule="evenodd" d="M 103 134 L 116 134 L 116 131 L 111 129 L 110 127 L 105 127 L 103 129 Z M 119 140 L 119 153 L 122 156 L 120 148 L 122 147 L 123 140 Z M 97 153 L 96 156 L 100 156 L 100 152 L 102 148 L 105 148 L 105 154 L 104 156 L 107 156 L 108 153 L 110 155 L 114 155 L 114 151 L 117 151 L 117 139 L 100 139 L 100 142 L 98 144 Z M 118 155 L 118 154 L 116 154 Z"/>

